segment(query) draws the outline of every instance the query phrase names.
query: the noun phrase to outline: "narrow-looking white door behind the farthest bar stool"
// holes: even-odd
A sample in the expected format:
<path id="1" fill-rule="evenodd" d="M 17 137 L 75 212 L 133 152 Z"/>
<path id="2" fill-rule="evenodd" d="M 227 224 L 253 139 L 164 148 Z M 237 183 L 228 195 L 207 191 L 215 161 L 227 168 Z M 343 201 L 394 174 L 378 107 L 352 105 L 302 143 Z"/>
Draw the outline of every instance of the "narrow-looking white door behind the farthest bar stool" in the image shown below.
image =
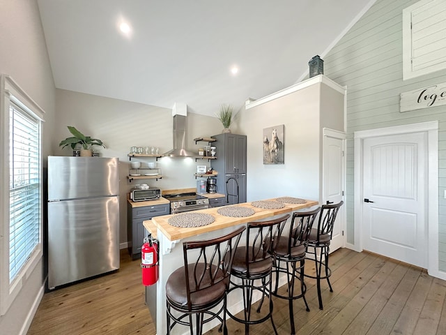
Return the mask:
<path id="1" fill-rule="evenodd" d="M 333 137 L 334 135 L 344 137 L 343 133 L 334 133 L 324 135 L 323 138 L 323 204 L 337 204 L 344 198 L 344 138 Z M 334 222 L 330 253 L 344 246 L 344 213 L 344 208 L 341 207 Z"/>

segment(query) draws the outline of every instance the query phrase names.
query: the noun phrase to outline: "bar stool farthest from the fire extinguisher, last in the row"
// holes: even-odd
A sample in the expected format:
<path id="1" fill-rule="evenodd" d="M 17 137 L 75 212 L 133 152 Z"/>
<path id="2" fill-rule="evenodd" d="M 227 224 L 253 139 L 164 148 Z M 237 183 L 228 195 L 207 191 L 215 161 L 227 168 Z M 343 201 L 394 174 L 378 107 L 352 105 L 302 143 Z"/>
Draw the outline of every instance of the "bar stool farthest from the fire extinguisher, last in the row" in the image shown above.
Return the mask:
<path id="1" fill-rule="evenodd" d="M 321 279 L 327 279 L 330 292 L 333 292 L 332 285 L 329 279 L 332 275 L 332 271 L 330 270 L 330 267 L 328 267 L 328 253 L 330 252 L 330 241 L 332 239 L 334 221 L 336 220 L 339 207 L 341 207 L 342 204 L 344 204 L 343 201 L 337 204 L 323 204 L 321 214 L 319 215 L 318 227 L 313 228 L 312 232 L 309 234 L 308 246 L 309 248 L 313 248 L 313 252 L 307 251 L 307 253 L 314 255 L 316 276 L 310 276 L 308 274 L 305 274 L 305 276 L 308 278 L 316 279 L 319 309 L 323 309 Z M 318 254 L 319 260 L 317 257 Z M 321 273 L 322 266 L 325 269 L 325 275 Z"/>

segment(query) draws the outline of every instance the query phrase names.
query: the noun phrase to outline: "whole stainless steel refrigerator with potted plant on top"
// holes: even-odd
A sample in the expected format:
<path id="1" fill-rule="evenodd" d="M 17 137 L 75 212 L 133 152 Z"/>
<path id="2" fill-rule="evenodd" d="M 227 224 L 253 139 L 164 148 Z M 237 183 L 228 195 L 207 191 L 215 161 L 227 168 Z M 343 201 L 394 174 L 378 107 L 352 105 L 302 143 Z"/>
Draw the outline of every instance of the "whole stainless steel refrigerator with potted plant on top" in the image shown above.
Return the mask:
<path id="1" fill-rule="evenodd" d="M 118 158 L 48 157 L 48 289 L 119 269 Z"/>

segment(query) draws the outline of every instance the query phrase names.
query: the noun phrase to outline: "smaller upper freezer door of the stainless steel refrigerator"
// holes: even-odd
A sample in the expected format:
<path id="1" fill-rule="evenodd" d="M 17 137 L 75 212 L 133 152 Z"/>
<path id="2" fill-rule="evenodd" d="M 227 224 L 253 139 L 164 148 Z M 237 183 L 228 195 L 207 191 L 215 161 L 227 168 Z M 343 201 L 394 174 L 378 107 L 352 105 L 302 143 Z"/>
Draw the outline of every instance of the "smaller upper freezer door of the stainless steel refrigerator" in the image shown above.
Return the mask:
<path id="1" fill-rule="evenodd" d="M 48 199 L 119 194 L 118 158 L 48 157 Z"/>

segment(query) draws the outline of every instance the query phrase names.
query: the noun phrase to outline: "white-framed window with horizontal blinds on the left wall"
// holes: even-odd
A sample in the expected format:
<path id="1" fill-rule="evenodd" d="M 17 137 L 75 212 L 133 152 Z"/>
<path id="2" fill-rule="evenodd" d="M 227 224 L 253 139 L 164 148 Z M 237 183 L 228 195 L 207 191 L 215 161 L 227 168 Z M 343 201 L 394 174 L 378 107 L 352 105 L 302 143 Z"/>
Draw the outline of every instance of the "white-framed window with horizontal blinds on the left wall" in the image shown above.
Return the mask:
<path id="1" fill-rule="evenodd" d="M 0 74 L 0 102 L 1 317 L 42 264 L 45 111 L 4 73 Z"/>

